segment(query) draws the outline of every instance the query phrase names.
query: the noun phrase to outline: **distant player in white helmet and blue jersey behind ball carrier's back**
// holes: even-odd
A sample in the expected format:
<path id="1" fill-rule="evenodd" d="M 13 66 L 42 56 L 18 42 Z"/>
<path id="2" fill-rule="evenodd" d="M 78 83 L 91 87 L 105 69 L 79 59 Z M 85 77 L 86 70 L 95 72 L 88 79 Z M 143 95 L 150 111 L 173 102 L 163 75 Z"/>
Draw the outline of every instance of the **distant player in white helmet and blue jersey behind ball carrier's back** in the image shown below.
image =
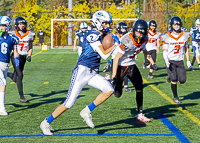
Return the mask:
<path id="1" fill-rule="evenodd" d="M 78 55 L 79 56 L 82 53 L 84 33 L 85 33 L 85 31 L 87 29 L 88 29 L 87 23 L 82 22 L 80 24 L 80 30 L 77 30 L 76 33 L 75 33 L 76 37 L 74 39 L 74 48 L 73 48 L 73 51 L 75 52 L 76 49 L 78 48 Z M 76 43 L 77 43 L 78 39 L 79 39 L 78 46 L 76 46 Z"/>

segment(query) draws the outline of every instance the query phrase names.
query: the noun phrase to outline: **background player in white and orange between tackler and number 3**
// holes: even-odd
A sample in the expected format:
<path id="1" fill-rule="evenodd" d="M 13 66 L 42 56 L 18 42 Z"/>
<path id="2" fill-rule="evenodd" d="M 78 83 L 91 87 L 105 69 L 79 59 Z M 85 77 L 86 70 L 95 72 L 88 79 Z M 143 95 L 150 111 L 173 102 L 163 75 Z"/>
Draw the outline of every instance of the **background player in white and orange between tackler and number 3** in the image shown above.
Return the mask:
<path id="1" fill-rule="evenodd" d="M 146 50 L 149 55 L 151 55 L 154 63 L 156 63 L 156 52 L 159 53 L 160 49 L 160 35 L 161 33 L 156 29 L 157 22 L 155 20 L 150 20 L 148 24 L 148 42 L 146 44 Z M 150 65 L 147 56 L 145 55 L 145 66 Z M 148 78 L 153 78 L 153 69 L 149 69 Z"/>

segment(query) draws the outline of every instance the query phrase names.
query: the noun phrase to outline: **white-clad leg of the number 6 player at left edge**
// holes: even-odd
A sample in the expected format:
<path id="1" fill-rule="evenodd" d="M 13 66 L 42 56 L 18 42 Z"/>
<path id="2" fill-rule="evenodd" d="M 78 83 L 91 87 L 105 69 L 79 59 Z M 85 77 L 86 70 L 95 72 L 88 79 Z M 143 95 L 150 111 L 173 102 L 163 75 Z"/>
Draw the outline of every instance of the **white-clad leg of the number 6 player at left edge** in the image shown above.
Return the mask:
<path id="1" fill-rule="evenodd" d="M 8 115 L 5 109 L 5 90 L 6 90 L 6 77 L 9 68 L 8 63 L 0 62 L 0 115 Z"/>

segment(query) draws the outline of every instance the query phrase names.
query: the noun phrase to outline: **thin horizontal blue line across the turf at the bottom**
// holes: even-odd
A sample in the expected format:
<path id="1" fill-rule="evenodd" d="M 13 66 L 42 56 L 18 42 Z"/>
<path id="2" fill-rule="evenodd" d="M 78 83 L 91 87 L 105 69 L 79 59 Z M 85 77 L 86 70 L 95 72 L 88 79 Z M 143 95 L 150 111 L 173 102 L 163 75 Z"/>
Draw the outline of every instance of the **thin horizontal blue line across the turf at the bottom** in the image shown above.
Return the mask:
<path id="1" fill-rule="evenodd" d="M 0 137 L 43 137 L 43 136 L 175 136 L 175 134 L 35 134 L 35 135 L 0 135 Z"/>

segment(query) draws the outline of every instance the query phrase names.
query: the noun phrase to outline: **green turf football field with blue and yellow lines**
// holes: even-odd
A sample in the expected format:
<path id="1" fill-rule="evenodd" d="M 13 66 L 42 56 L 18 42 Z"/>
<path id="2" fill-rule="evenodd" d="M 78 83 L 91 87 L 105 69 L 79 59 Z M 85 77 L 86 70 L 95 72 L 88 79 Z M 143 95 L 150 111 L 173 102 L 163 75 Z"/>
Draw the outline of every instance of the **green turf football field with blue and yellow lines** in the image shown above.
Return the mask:
<path id="1" fill-rule="evenodd" d="M 137 59 L 144 78 L 144 114 L 152 122 L 136 121 L 135 90 L 129 83 L 132 93 L 123 93 L 121 98 L 113 95 L 92 112 L 95 128 L 90 129 L 79 113 L 100 91 L 85 86 L 73 108 L 52 122 L 54 136 L 44 136 L 40 123 L 65 100 L 77 59 L 77 53 L 68 49 L 34 50 L 31 63 L 26 63 L 23 79 L 29 103 L 19 102 L 17 86 L 7 78 L 5 107 L 9 115 L 0 116 L 1 143 L 200 142 L 200 71 L 196 63 L 195 71 L 187 70 L 187 82 L 178 85 L 178 95 L 183 103 L 174 104 L 162 53 L 157 57 L 160 70 L 153 73 L 154 79 L 148 79 L 148 69 L 142 69 L 142 53 Z M 100 71 L 106 62 L 102 60 Z"/>

